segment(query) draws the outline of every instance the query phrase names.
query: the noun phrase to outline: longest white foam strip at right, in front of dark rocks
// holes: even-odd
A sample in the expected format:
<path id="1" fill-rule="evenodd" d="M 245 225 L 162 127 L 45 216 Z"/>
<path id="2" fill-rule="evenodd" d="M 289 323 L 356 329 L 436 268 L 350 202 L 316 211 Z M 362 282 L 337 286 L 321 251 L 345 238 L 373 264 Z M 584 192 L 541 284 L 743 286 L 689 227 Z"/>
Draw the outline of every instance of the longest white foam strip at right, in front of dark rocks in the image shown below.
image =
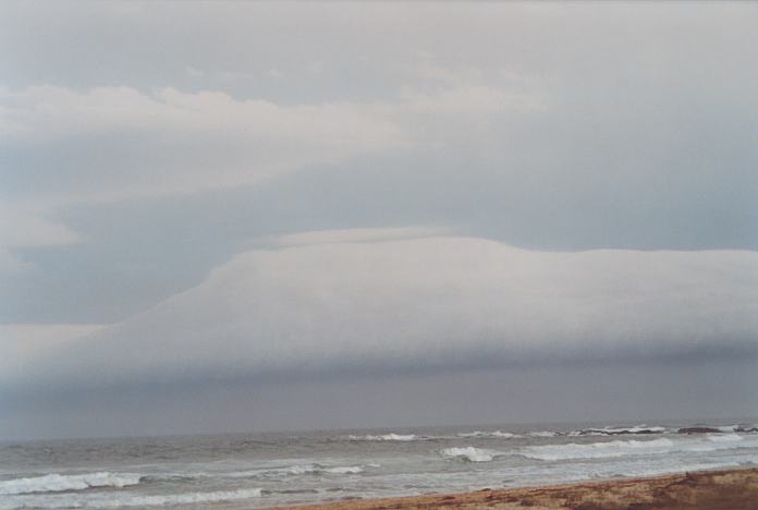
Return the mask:
<path id="1" fill-rule="evenodd" d="M 524 457 L 537 460 L 598 459 L 624 456 L 638 456 L 669 451 L 674 447 L 671 439 L 650 441 L 604 441 L 586 445 L 570 442 L 567 445 L 545 445 L 526 447 L 521 450 Z"/>

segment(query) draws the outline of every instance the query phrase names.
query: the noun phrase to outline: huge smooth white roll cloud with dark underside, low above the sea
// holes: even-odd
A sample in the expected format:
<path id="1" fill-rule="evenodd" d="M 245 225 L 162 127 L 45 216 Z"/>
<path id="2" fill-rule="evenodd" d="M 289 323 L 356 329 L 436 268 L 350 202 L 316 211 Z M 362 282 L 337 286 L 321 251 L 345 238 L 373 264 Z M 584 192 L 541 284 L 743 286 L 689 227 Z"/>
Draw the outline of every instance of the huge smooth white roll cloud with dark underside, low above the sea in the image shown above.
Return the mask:
<path id="1" fill-rule="evenodd" d="M 309 235 L 339 242 L 243 253 L 196 288 L 23 371 L 4 371 L 3 384 L 292 377 L 758 348 L 755 252 L 535 252 L 473 238 Z"/>

